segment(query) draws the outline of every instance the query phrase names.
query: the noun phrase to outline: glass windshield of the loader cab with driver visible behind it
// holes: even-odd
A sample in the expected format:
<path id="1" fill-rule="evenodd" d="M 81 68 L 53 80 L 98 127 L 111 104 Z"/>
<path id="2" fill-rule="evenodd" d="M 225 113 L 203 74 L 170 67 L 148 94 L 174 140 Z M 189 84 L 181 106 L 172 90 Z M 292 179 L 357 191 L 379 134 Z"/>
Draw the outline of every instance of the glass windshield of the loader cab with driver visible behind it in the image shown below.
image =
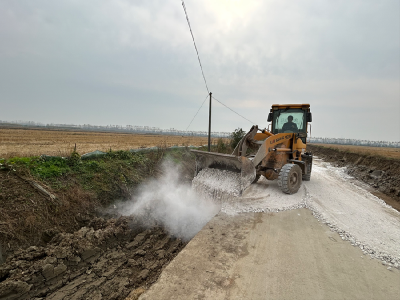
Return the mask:
<path id="1" fill-rule="evenodd" d="M 274 134 L 306 132 L 306 111 L 299 108 L 275 110 L 272 131 Z"/>

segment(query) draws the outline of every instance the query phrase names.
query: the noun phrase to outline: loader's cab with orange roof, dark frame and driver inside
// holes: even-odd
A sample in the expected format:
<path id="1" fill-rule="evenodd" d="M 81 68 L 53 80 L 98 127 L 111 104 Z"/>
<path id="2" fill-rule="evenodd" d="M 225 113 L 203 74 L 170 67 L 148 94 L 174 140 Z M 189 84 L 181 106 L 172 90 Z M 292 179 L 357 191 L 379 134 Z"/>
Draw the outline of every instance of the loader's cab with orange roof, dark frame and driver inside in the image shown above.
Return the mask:
<path id="1" fill-rule="evenodd" d="M 273 134 L 298 133 L 303 143 L 306 143 L 307 124 L 311 121 L 310 104 L 274 104 L 268 115 Z"/>

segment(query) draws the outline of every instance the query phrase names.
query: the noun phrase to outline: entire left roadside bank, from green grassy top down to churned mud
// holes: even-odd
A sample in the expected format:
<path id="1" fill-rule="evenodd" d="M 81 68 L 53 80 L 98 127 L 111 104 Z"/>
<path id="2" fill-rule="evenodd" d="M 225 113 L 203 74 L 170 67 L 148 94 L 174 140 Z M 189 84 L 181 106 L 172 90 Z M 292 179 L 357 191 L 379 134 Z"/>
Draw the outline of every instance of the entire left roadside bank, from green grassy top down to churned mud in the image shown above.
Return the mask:
<path id="1" fill-rule="evenodd" d="M 164 176 L 165 159 L 191 181 L 185 148 L 2 159 L 0 299 L 125 299 L 155 282 L 186 242 L 117 206 Z"/>

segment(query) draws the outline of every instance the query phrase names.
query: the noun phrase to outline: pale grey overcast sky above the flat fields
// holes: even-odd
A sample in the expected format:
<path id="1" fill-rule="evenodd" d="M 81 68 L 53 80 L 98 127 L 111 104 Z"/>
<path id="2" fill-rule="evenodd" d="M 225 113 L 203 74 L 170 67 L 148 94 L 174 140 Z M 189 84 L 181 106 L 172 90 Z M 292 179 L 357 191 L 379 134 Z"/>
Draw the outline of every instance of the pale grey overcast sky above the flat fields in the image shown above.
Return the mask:
<path id="1" fill-rule="evenodd" d="M 315 137 L 388 141 L 399 3 L 185 1 L 215 98 L 259 127 L 274 103 L 310 103 Z M 0 120 L 184 130 L 206 96 L 180 0 L 0 0 Z M 214 103 L 213 131 L 251 125 Z"/>

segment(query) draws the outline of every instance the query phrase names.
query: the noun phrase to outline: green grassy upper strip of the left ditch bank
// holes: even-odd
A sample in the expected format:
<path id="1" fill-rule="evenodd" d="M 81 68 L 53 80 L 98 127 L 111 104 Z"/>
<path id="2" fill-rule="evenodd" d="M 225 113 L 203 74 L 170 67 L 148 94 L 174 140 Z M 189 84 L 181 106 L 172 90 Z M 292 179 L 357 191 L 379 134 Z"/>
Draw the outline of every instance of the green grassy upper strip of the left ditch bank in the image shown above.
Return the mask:
<path id="1" fill-rule="evenodd" d="M 13 157 L 3 160 L 3 168 L 22 178 L 38 181 L 55 193 L 80 186 L 84 191 L 93 192 L 100 204 L 107 205 L 116 197 L 129 196 L 128 187 L 151 176 L 162 155 L 110 151 L 101 158 L 81 160 L 80 155 L 73 152 L 66 158 Z"/>

